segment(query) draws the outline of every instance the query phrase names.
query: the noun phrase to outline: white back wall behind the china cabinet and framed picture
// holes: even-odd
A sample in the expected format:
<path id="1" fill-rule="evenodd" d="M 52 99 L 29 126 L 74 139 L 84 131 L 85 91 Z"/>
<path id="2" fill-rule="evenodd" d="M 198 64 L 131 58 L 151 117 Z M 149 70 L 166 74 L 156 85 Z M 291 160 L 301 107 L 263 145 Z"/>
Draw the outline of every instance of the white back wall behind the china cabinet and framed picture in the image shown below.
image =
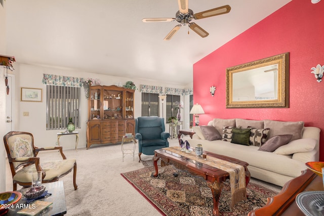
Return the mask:
<path id="1" fill-rule="evenodd" d="M 18 61 L 18 60 L 17 60 Z M 18 65 L 18 66 L 17 66 Z M 125 84 L 126 81 L 131 80 L 125 77 L 107 76 L 102 74 L 94 74 L 83 71 L 61 69 L 61 68 L 49 68 L 43 66 L 33 66 L 27 64 L 15 63 L 16 72 L 16 113 L 15 116 L 15 128 L 16 131 L 27 131 L 33 134 L 35 140 L 35 146 L 53 146 L 57 142 L 57 133 L 61 130 L 46 130 L 46 86 L 42 83 L 43 73 L 57 74 L 64 76 L 74 76 L 83 78 L 98 78 L 102 85 L 112 85 L 121 82 Z M 161 83 L 160 81 L 147 81 L 147 80 L 135 80 L 132 79 L 136 86 L 139 88 L 140 84 L 147 85 L 159 85 L 163 87 L 172 88 L 185 88 L 180 85 L 170 85 L 169 83 Z M 21 102 L 20 101 L 20 88 L 37 88 L 43 89 L 43 102 Z M 183 96 L 182 99 L 183 100 Z M 164 103 L 166 106 L 166 103 Z M 164 107 L 166 111 L 166 107 Z M 29 116 L 23 116 L 23 112 L 29 112 Z M 141 116 L 141 93 L 139 90 L 135 91 L 135 117 Z M 184 113 L 182 111 L 182 116 Z M 79 134 L 78 148 L 86 147 L 86 122 L 88 120 L 88 101 L 84 95 L 84 89 L 82 88 L 81 99 L 81 128 L 77 128 Z M 162 116 L 162 114 L 160 115 Z M 166 113 L 164 114 L 166 116 Z M 189 118 L 189 115 L 188 115 Z M 188 120 L 187 120 L 188 121 Z M 188 124 L 189 125 L 189 124 Z M 168 126 L 166 126 L 169 129 Z M 60 144 L 64 149 L 73 149 L 75 143 L 74 136 L 64 136 L 60 138 Z"/>

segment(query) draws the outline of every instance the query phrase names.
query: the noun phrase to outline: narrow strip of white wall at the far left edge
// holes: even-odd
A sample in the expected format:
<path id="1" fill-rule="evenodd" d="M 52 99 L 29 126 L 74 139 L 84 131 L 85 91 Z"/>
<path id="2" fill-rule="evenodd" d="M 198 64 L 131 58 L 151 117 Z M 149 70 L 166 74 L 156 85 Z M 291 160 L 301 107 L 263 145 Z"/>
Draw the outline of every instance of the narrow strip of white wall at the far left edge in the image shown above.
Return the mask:
<path id="1" fill-rule="evenodd" d="M 3 2 L 6 7 L 6 2 Z M 6 55 L 6 11 L 0 4 L 0 54 Z M 3 67 L 0 67 L 0 122 L 6 121 L 6 88 L 5 88 L 5 71 Z M 0 123 L 0 132 L 6 131 L 6 125 Z M 1 133 L 1 137 L 4 136 Z M 6 153 L 5 153 L 4 141 L 1 139 L 0 143 L 0 192 L 6 191 Z"/>

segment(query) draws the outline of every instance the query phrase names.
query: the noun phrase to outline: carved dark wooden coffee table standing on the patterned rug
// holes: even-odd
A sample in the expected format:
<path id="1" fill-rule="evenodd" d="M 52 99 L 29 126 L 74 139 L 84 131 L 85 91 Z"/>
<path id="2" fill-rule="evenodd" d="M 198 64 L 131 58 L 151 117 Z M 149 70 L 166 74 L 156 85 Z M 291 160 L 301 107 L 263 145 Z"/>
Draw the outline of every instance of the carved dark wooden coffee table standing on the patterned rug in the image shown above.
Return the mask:
<path id="1" fill-rule="evenodd" d="M 170 147 L 170 148 L 180 148 L 180 147 Z M 228 172 L 206 164 L 201 164 L 190 158 L 178 155 L 174 152 L 168 151 L 167 148 L 157 149 L 154 152 L 155 152 L 153 157 L 154 167 L 155 167 L 154 177 L 157 177 L 158 175 L 157 161 L 159 159 L 161 159 L 162 166 L 167 163 L 172 163 L 179 169 L 188 169 L 194 174 L 204 177 L 205 180 L 207 181 L 208 187 L 212 190 L 213 202 L 214 202 L 213 215 L 220 215 L 218 209 L 218 202 L 219 202 L 219 197 L 221 194 L 223 182 L 229 178 Z M 231 163 L 244 166 L 245 173 L 246 173 L 246 185 L 248 186 L 250 181 L 250 172 L 248 170 L 249 164 L 247 162 L 237 160 L 231 157 L 227 157 L 224 155 L 214 154 L 207 151 L 204 151 L 204 153 L 207 154 L 207 159 L 209 157 L 215 157 L 218 159 L 226 160 Z"/>

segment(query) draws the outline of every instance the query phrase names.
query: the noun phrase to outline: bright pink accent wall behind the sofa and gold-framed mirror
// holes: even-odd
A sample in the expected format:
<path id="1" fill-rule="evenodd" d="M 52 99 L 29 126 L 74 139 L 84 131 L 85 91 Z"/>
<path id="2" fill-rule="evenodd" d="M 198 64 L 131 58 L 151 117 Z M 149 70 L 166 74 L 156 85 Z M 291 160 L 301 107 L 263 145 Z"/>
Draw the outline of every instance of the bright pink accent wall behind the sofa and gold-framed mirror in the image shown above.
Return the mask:
<path id="1" fill-rule="evenodd" d="M 289 108 L 226 109 L 226 68 L 287 52 Z M 324 65 L 324 0 L 293 0 L 193 65 L 194 103 L 206 113 L 199 124 L 213 118 L 304 121 L 321 129 L 319 160 L 324 161 L 324 80 L 318 83 L 310 73 L 317 64 Z"/>

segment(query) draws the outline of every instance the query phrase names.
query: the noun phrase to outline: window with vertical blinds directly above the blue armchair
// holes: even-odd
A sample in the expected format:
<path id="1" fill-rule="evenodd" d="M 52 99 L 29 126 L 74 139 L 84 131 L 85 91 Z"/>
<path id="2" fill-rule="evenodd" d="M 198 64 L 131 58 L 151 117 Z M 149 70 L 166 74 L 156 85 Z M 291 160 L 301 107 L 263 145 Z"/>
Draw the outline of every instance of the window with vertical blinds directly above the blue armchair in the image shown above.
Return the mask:
<path id="1" fill-rule="evenodd" d="M 158 94 L 142 93 L 142 116 L 159 116 L 158 108 Z"/>

